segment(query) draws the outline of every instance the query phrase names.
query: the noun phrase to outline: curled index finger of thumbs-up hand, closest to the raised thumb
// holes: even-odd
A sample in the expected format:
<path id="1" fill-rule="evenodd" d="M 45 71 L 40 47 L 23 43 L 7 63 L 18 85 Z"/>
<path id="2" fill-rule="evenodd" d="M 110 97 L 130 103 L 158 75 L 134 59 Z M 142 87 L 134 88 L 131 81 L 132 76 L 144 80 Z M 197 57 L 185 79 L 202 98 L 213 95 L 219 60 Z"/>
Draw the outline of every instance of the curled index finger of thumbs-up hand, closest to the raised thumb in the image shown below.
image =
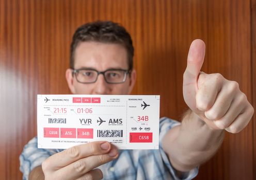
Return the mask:
<path id="1" fill-rule="evenodd" d="M 198 79 L 198 91 L 196 94 L 196 106 L 200 111 L 207 111 L 213 106 L 217 94 L 222 86 L 223 77 L 220 74 L 200 74 Z"/>

